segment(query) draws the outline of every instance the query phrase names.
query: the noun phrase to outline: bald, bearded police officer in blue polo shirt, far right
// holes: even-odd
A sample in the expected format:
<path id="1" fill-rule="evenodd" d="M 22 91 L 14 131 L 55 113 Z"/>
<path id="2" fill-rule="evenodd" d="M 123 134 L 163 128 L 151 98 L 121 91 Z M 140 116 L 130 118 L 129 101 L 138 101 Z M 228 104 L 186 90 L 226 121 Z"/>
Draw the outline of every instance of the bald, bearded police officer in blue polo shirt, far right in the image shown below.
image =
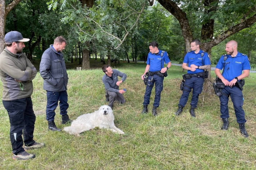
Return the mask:
<path id="1" fill-rule="evenodd" d="M 216 65 L 215 73 L 221 79 L 225 87 L 222 89 L 222 95 L 220 96 L 220 112 L 223 121 L 222 130 L 228 130 L 229 125 L 229 109 L 228 101 L 229 96 L 233 102 L 235 116 L 237 117 L 237 123 L 239 124 L 240 132 L 244 137 L 248 137 L 244 123 L 243 110 L 243 93 L 238 84 L 241 79 L 249 75 L 251 66 L 248 57 L 237 51 L 237 42 L 232 40 L 226 43 L 227 54 L 222 55 L 219 62 Z M 222 74 L 220 70 L 224 68 Z M 243 73 L 242 73 L 243 72 Z"/>

